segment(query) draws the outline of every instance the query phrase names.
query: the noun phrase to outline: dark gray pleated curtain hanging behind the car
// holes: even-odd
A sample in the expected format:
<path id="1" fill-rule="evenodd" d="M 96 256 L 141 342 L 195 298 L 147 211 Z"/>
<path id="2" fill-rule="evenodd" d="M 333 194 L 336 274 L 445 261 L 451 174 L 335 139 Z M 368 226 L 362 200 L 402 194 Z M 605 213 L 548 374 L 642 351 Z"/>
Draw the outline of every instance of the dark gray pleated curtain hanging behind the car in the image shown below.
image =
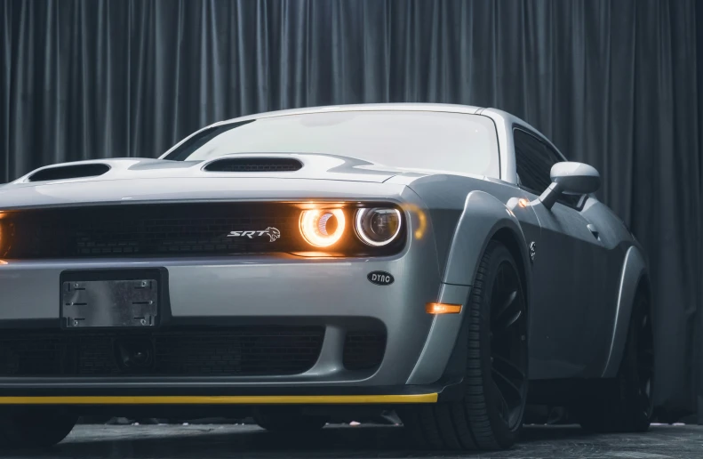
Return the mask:
<path id="1" fill-rule="evenodd" d="M 603 173 L 601 197 L 647 247 L 659 403 L 695 409 L 695 0 L 0 1 L 0 181 L 156 157 L 203 125 L 271 109 L 434 101 L 523 117 Z"/>

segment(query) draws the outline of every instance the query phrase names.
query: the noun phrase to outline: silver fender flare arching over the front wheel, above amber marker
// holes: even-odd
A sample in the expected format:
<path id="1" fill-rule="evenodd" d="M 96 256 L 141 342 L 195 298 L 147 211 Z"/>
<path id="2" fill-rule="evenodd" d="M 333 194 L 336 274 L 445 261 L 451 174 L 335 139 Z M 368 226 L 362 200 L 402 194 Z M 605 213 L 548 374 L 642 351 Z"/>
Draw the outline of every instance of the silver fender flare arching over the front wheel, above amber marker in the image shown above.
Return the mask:
<path id="1" fill-rule="evenodd" d="M 491 238 L 501 229 L 509 229 L 517 240 L 524 273 L 525 291 L 531 291 L 530 256 L 523 229 L 507 205 L 484 191 L 471 191 L 467 195 L 464 211 L 459 217 L 451 240 L 451 247 L 444 267 L 442 282 L 459 286 L 474 283 L 478 263 Z M 480 241 L 480 242 L 479 242 Z M 529 294 L 525 295 L 528 298 Z"/>

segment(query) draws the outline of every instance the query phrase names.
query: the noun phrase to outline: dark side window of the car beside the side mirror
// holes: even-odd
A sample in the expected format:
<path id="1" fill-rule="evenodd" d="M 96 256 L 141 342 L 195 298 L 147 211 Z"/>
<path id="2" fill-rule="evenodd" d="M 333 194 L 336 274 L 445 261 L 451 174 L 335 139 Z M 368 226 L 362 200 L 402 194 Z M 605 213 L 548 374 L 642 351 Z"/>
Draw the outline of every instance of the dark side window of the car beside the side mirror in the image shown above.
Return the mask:
<path id="1" fill-rule="evenodd" d="M 520 129 L 513 131 L 515 167 L 519 184 L 536 195 L 542 194 L 552 183 L 552 166 L 563 161 L 555 149 Z M 563 194 L 558 202 L 578 207 L 581 196 Z"/>

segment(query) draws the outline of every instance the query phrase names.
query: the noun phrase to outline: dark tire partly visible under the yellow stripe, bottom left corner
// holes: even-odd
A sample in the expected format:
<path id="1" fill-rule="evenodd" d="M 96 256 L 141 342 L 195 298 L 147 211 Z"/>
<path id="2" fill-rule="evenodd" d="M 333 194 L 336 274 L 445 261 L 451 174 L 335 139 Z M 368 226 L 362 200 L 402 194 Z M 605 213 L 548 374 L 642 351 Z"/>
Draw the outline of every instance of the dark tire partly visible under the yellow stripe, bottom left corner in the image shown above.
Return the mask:
<path id="1" fill-rule="evenodd" d="M 0 446 L 52 447 L 73 430 L 78 416 L 59 408 L 28 407 L 0 415 Z"/>

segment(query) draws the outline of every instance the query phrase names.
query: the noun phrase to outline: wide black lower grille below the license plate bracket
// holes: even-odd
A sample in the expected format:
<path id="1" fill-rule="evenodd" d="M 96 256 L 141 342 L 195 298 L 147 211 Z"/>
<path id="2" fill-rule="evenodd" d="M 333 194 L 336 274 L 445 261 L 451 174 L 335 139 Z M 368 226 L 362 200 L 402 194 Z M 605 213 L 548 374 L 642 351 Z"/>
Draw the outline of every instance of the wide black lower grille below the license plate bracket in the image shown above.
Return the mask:
<path id="1" fill-rule="evenodd" d="M 3 334 L 0 375 L 300 374 L 315 365 L 323 339 L 322 326 L 243 326 L 151 334 Z M 135 350 L 148 355 L 130 360 Z"/>

